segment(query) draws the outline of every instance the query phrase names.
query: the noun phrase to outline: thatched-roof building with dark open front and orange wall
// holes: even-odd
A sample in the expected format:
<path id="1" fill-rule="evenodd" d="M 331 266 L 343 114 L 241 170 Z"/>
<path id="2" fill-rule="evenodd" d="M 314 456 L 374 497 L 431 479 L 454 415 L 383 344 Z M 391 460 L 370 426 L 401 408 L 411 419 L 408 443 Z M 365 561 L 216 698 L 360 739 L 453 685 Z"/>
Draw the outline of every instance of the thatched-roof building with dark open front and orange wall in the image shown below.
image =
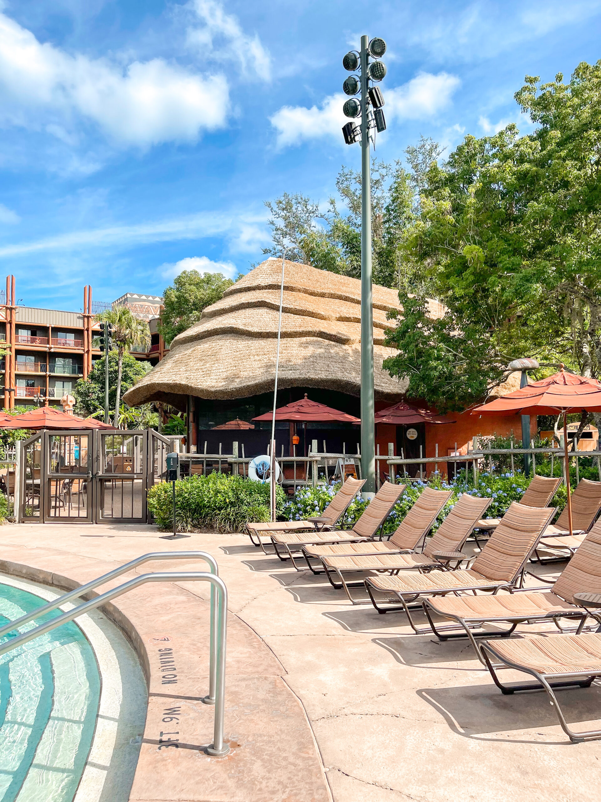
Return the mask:
<path id="1" fill-rule="evenodd" d="M 255 422 L 272 409 L 276 341 L 280 306 L 281 261 L 270 258 L 228 288 L 224 297 L 204 310 L 200 322 L 171 342 L 171 351 L 151 373 L 123 396 L 130 405 L 148 401 L 169 403 L 188 413 L 190 452 L 232 453 L 232 443 L 244 444 L 245 456 L 265 453 L 271 423 Z M 429 302 L 430 314 L 444 310 Z M 405 401 L 406 380 L 382 367 L 395 350 L 385 346 L 385 330 L 393 326 L 389 310 L 402 313 L 396 290 L 373 286 L 373 356 L 376 411 Z M 500 388 L 499 394 L 508 387 Z M 277 406 L 308 398 L 360 415 L 361 282 L 309 265 L 286 261 L 280 342 Z M 411 406 L 415 406 L 413 401 Z M 426 404 L 417 404 L 425 407 Z M 518 416 L 478 419 L 469 412 L 448 416 L 446 425 L 377 424 L 381 454 L 392 444 L 395 456 L 442 455 L 467 448 L 474 435 L 515 431 Z M 253 428 L 224 428 L 239 419 Z M 534 419 L 534 427 L 536 420 Z M 306 455 L 317 440 L 319 451 L 356 452 L 361 440 L 351 423 L 276 423 L 277 453 Z M 410 431 L 411 430 L 411 431 Z M 534 428 L 535 431 L 535 428 Z M 422 454 L 420 454 L 420 448 Z M 241 452 L 240 452 L 241 455 Z"/>

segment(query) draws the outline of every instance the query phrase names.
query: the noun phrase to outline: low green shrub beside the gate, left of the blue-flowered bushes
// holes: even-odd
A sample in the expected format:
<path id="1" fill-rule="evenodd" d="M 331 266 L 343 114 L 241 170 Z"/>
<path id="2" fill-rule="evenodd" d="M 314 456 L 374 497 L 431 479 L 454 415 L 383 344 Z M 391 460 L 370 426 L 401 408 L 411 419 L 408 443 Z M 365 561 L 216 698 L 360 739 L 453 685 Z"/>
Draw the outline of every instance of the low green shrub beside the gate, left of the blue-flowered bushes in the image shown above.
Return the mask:
<path id="1" fill-rule="evenodd" d="M 278 487 L 276 508 L 284 507 L 284 491 Z M 155 484 L 148 491 L 148 510 L 160 529 L 173 526 L 171 482 Z M 208 527 L 216 532 L 241 532 L 250 520 L 268 521 L 269 485 L 210 473 L 175 482 L 175 524 L 179 532 Z"/>

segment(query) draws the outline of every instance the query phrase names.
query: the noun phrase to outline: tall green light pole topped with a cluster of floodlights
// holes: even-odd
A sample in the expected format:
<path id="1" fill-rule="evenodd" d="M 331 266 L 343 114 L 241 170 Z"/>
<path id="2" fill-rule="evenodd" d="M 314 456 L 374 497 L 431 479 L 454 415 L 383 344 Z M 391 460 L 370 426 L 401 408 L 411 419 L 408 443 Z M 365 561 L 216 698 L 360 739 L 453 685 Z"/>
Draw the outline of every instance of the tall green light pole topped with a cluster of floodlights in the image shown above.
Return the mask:
<path id="1" fill-rule="evenodd" d="M 359 68 L 359 77 L 351 75 L 343 89 L 347 95 L 361 93 L 361 101 L 352 97 L 345 102 L 347 117 L 361 114 L 361 126 L 347 123 L 342 129 L 346 144 L 361 141 L 361 476 L 365 479 L 363 497 L 376 492 L 376 447 L 373 407 L 373 301 L 372 301 L 372 199 L 369 144 L 375 132 L 386 130 L 382 106 L 384 99 L 374 86 L 386 75 L 386 67 L 378 59 L 385 54 L 384 39 L 361 36 L 361 50 L 350 51 L 342 59 L 345 70 Z M 371 86 L 370 86 L 371 83 Z M 371 109 L 369 107 L 372 107 Z"/>

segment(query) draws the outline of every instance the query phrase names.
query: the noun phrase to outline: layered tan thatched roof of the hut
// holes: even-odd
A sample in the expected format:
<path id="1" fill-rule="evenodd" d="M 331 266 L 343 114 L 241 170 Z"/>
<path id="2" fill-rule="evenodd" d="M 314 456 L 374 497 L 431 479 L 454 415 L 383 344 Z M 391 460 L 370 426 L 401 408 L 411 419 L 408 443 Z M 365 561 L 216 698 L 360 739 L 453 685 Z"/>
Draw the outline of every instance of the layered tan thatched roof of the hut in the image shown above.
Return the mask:
<path id="1" fill-rule="evenodd" d="M 183 395 L 236 399 L 272 391 L 280 280 L 280 259 L 257 265 L 208 306 L 200 322 L 173 340 L 169 354 L 127 391 L 124 400 L 130 405 L 167 401 L 177 406 Z M 400 310 L 397 291 L 373 286 L 374 390 L 379 399 L 398 400 L 406 382 L 382 370 L 382 360 L 395 353 L 383 344 L 391 308 Z M 360 395 L 359 280 L 286 261 L 278 387 L 321 387 Z"/>

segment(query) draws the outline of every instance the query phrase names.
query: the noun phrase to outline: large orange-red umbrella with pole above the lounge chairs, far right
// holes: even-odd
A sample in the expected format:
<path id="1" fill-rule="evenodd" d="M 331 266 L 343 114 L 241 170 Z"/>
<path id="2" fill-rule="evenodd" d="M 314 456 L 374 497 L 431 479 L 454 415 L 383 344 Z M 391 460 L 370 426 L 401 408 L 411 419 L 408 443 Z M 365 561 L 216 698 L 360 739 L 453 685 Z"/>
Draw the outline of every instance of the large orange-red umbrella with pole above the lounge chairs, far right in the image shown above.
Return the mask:
<path id="1" fill-rule="evenodd" d="M 563 449 L 566 460 L 567 517 L 572 534 L 572 504 L 570 496 L 570 464 L 567 456 L 567 415 L 572 413 L 601 412 L 601 382 L 566 373 L 559 373 L 527 384 L 513 393 L 503 395 L 473 410 L 474 415 L 507 415 L 521 412 L 524 415 L 557 415 L 563 413 Z"/>

